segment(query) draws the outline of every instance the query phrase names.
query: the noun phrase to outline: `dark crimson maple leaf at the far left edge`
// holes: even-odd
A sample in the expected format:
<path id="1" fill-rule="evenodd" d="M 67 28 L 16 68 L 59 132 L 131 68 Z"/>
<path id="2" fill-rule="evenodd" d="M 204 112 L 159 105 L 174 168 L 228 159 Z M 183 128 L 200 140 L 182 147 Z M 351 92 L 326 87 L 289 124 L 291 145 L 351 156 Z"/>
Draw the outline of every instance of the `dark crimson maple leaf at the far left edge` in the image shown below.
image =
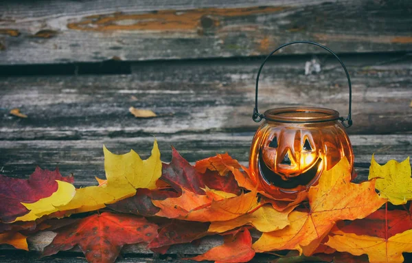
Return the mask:
<path id="1" fill-rule="evenodd" d="M 29 179 L 16 179 L 0 174 L 0 220 L 12 222 L 29 212 L 23 203 L 34 203 L 57 191 L 56 180 L 73 183 L 73 176 L 63 177 L 58 169 L 43 170 L 36 167 Z"/>

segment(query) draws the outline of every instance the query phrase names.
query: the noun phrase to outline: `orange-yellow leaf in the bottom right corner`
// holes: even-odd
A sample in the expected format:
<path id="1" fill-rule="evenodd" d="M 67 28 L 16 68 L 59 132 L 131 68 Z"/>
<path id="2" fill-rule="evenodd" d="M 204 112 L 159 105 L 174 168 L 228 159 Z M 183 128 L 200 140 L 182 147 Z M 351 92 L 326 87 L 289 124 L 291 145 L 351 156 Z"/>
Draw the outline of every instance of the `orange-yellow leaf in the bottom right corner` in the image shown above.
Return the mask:
<path id="1" fill-rule="evenodd" d="M 371 263 L 404 262 L 402 252 L 412 252 L 412 229 L 391 236 L 388 240 L 375 236 L 343 233 L 329 236 L 326 244 L 337 251 L 349 252 L 352 255 L 367 254 Z"/>

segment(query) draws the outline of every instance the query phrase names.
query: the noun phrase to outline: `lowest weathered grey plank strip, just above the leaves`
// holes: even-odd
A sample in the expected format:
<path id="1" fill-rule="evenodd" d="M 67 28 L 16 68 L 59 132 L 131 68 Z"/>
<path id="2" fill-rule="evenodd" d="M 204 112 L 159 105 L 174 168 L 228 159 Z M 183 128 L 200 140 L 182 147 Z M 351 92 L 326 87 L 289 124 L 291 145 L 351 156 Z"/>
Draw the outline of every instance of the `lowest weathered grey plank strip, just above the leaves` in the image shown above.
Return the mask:
<path id="1" fill-rule="evenodd" d="M 249 148 L 253 133 L 198 133 L 197 135 L 159 135 L 157 140 L 161 159 L 171 159 L 173 145 L 188 161 L 195 161 L 229 152 L 233 158 L 248 165 Z M 402 161 L 412 153 L 412 135 L 351 135 L 354 147 L 356 181 L 367 179 L 371 155 L 376 161 L 386 163 L 389 159 Z M 75 185 L 95 185 L 94 176 L 104 178 L 102 146 L 117 154 L 133 148 L 142 158 L 150 155 L 153 137 L 109 138 L 96 137 L 89 140 L 61 141 L 0 141 L 0 173 L 27 178 L 35 165 L 54 169 L 58 166 L 64 175 L 73 173 Z"/>

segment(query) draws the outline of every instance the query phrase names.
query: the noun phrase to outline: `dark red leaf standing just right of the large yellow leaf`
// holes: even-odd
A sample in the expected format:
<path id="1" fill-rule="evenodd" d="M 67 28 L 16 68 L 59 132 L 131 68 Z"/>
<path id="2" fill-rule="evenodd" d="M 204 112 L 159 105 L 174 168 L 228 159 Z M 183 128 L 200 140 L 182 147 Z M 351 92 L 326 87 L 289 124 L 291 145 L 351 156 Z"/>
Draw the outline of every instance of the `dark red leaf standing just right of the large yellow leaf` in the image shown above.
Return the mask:
<path id="1" fill-rule="evenodd" d="M 205 191 L 202 190 L 202 188 L 205 188 L 202 174 L 183 159 L 173 147 L 172 161 L 169 164 L 163 163 L 160 179 L 172 185 L 174 190 L 178 192 L 181 192 L 183 187 L 195 194 L 205 194 Z"/>

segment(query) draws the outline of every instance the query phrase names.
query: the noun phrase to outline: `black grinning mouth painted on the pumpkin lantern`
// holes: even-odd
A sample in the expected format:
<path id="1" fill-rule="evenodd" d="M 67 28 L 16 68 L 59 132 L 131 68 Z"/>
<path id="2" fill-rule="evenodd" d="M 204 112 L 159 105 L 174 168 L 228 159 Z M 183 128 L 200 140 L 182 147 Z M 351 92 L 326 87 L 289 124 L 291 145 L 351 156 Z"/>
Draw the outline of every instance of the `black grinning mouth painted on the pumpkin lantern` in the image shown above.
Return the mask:
<path id="1" fill-rule="evenodd" d="M 277 174 L 270 168 L 268 168 L 266 166 L 266 163 L 264 163 L 262 159 L 262 155 L 259 155 L 259 171 L 266 183 L 284 189 L 294 189 L 299 185 L 312 185 L 312 181 L 314 181 L 315 177 L 317 177 L 319 165 L 321 165 L 321 162 L 322 159 L 319 158 L 319 160 L 308 171 L 299 174 L 299 176 L 284 180 L 282 179 L 282 176 L 280 176 L 280 174 Z"/>

